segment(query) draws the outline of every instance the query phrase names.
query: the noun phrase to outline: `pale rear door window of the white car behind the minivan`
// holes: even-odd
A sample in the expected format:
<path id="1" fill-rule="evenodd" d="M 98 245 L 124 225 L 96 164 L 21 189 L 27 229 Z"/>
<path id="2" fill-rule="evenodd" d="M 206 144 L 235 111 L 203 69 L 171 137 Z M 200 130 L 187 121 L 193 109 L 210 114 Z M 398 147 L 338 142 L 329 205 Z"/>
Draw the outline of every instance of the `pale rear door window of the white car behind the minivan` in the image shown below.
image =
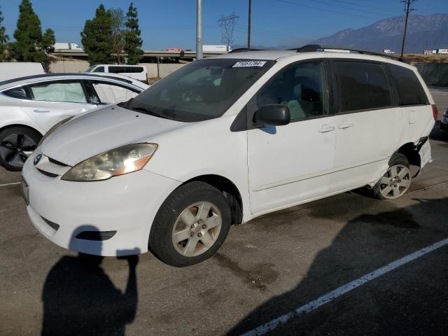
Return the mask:
<path id="1" fill-rule="evenodd" d="M 46 102 L 87 103 L 79 82 L 53 82 L 29 85 L 34 100 Z"/>

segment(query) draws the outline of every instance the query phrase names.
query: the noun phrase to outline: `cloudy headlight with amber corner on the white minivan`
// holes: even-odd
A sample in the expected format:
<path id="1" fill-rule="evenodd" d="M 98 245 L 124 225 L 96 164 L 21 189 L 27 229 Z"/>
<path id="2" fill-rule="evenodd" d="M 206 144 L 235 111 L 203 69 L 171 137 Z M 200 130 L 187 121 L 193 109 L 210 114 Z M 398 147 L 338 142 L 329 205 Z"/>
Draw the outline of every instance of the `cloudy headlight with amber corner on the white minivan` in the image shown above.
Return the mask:
<path id="1" fill-rule="evenodd" d="M 65 181 L 102 181 L 142 169 L 157 150 L 157 144 L 118 147 L 78 163 L 62 176 Z"/>

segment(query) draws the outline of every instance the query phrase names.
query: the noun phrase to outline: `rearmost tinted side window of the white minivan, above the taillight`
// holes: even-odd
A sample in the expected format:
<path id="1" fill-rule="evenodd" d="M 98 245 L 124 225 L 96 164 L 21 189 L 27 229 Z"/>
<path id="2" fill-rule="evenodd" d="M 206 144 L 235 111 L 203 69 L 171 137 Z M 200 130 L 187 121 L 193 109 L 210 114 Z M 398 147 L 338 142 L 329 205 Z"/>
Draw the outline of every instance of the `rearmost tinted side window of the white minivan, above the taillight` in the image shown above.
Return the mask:
<path id="1" fill-rule="evenodd" d="M 386 66 L 398 91 L 400 106 L 428 104 L 428 97 L 414 71 L 393 64 Z"/>

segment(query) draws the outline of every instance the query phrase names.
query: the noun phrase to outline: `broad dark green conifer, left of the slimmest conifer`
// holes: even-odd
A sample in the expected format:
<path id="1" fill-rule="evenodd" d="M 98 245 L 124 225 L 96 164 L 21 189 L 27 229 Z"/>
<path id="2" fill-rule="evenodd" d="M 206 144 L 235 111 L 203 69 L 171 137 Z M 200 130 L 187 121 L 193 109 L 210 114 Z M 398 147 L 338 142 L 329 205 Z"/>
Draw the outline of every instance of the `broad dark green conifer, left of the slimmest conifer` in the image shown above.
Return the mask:
<path id="1" fill-rule="evenodd" d="M 112 48 L 112 15 L 101 4 L 92 20 L 87 20 L 81 32 L 81 42 L 90 65 L 109 64 L 113 62 Z"/>

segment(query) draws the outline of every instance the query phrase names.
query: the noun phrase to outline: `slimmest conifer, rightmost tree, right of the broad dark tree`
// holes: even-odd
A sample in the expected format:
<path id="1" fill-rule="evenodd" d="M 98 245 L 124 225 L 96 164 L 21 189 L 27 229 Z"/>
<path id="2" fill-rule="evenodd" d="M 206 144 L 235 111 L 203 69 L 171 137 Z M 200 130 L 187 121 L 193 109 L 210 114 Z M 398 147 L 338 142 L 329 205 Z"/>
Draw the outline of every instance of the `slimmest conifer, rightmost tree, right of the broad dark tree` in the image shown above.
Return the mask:
<path id="1" fill-rule="evenodd" d="M 125 52 L 127 53 L 127 64 L 138 64 L 143 57 L 141 50 L 141 41 L 139 29 L 139 19 L 137 18 L 137 8 L 131 2 L 126 15 L 126 31 L 125 31 Z"/>

